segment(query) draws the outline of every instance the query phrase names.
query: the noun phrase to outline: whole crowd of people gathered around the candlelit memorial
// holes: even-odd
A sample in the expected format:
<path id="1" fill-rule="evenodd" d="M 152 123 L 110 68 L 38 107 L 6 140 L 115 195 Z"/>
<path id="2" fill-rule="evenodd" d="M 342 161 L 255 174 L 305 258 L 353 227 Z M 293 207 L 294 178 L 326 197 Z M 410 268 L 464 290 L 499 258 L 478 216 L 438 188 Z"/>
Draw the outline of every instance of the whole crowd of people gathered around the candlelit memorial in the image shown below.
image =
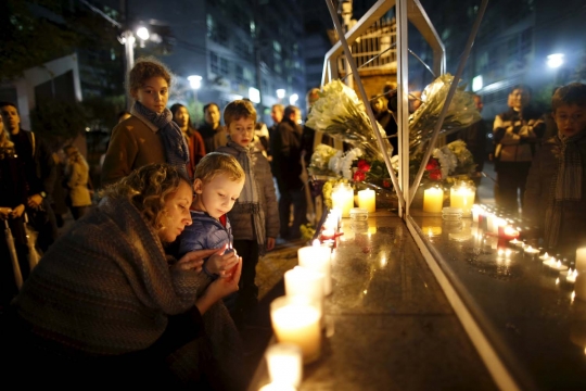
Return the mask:
<path id="1" fill-rule="evenodd" d="M 167 109 L 171 78 L 153 59 L 130 71 L 135 102 L 112 131 L 97 197 L 74 146 L 52 153 L 21 129 L 15 104 L 0 102 L 0 219 L 14 244 L 1 241 L 0 251 L 2 260 L 17 258 L 24 280 L 21 288 L 14 263 L 1 263 L 2 335 L 10 336 L 4 352 L 14 379 L 34 366 L 35 386 L 84 378 L 243 389 L 237 326 L 257 305 L 259 257 L 279 237 L 300 238 L 307 223 L 304 167 L 315 133 L 294 105 L 273 105 L 267 127 L 249 100 L 224 110 L 206 104 L 195 127 L 184 105 Z M 497 202 L 515 210 L 521 191 L 523 212 L 547 244 L 575 245 L 586 238 L 586 86 L 557 89 L 549 138 L 530 93 L 513 88 L 509 110 L 495 119 Z M 372 106 L 396 140 L 396 105 L 392 91 L 385 94 Z M 309 108 L 316 99 L 313 89 Z M 476 146 L 480 171 L 485 134 L 474 127 L 457 136 Z M 52 197 L 58 184 L 61 200 Z M 58 239 L 62 204 L 76 222 Z M 26 261 L 27 224 L 38 231 L 36 266 Z"/>

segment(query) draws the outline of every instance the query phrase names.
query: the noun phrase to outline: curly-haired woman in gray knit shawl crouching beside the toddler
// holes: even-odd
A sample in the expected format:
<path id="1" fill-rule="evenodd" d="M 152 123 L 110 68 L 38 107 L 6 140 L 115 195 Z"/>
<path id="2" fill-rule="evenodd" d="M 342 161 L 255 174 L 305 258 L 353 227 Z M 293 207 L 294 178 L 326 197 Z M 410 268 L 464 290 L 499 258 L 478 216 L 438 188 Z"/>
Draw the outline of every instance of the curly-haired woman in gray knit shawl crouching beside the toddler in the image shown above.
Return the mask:
<path id="1" fill-rule="evenodd" d="M 222 249 L 179 261 L 164 251 L 191 224 L 189 179 L 153 164 L 103 195 L 16 297 L 2 332 L 7 374 L 42 387 L 239 388 L 240 342 L 220 299 L 238 290 L 241 261 Z M 209 256 L 215 281 L 201 273 Z"/>

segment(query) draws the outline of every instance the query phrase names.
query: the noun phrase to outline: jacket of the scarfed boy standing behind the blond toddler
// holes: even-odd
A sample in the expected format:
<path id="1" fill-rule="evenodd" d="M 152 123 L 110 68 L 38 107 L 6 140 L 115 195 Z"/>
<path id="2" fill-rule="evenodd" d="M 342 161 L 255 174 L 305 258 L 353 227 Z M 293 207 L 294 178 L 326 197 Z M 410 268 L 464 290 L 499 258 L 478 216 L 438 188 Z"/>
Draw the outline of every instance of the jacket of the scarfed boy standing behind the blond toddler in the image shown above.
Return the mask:
<path id="1" fill-rule="evenodd" d="M 230 147 L 220 147 L 218 152 L 231 154 L 237 159 L 239 154 L 239 151 Z M 272 173 L 270 171 L 269 162 L 263 152 L 255 150 L 254 157 L 254 178 L 256 179 L 260 207 L 265 211 L 266 236 L 267 238 L 277 238 L 279 235 L 279 209 L 275 182 L 272 181 Z M 245 174 L 246 178 L 249 178 L 249 173 Z M 238 240 L 256 239 L 252 216 L 249 213 L 239 212 L 239 209 L 237 207 L 238 203 L 239 201 L 237 201 L 234 207 L 228 212 L 234 238 Z"/>

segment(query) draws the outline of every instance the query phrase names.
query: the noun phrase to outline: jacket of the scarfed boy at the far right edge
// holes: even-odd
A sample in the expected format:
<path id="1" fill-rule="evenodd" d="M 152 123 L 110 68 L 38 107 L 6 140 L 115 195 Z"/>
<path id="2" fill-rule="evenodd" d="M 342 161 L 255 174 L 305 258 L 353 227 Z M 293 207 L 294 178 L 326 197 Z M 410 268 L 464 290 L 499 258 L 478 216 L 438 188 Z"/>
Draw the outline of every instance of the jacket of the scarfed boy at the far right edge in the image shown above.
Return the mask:
<path id="1" fill-rule="evenodd" d="M 555 136 L 558 137 L 558 136 Z M 582 200 L 565 201 L 558 244 L 575 248 L 586 239 L 586 137 L 576 141 L 582 156 Z M 551 182 L 558 173 L 557 146 L 553 137 L 544 142 L 531 165 L 525 187 L 523 217 L 531 219 L 543 232 L 545 215 L 551 202 Z"/>

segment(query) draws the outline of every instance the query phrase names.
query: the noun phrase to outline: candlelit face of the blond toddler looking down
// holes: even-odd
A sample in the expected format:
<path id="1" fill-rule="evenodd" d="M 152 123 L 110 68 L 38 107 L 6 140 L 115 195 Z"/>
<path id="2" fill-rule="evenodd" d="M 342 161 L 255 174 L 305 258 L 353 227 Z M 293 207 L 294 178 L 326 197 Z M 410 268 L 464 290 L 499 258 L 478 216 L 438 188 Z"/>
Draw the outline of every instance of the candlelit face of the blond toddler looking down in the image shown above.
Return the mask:
<path id="1" fill-rule="evenodd" d="M 219 218 L 232 210 L 243 187 L 244 179 L 234 181 L 224 175 L 218 175 L 205 184 L 201 179 L 195 179 L 193 190 L 198 197 L 194 209 L 207 212 L 214 218 Z"/>

